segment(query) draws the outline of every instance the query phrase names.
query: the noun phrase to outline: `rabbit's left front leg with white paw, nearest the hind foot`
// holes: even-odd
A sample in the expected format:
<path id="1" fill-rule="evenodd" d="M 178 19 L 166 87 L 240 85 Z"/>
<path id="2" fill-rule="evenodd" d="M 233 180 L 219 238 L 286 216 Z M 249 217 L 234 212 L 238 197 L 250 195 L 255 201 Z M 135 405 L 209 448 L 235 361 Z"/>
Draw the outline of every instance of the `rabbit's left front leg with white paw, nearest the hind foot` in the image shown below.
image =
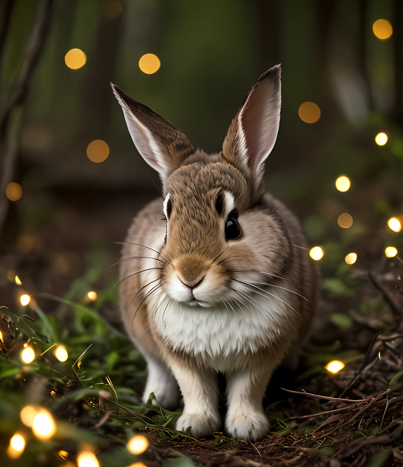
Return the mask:
<path id="1" fill-rule="evenodd" d="M 211 436 L 220 425 L 217 374 L 212 369 L 195 368 L 184 362 L 173 363 L 171 369 L 184 400 L 176 429 L 186 431 L 191 426 L 195 438 Z"/>

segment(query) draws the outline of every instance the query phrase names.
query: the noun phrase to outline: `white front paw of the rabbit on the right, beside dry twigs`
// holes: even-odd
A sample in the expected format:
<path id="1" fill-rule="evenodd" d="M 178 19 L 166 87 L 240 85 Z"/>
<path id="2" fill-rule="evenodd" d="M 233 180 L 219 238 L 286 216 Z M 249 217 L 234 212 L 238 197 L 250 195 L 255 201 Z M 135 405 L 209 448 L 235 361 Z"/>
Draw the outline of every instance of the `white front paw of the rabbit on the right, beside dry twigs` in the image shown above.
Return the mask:
<path id="1" fill-rule="evenodd" d="M 227 416 L 225 428 L 234 439 L 255 442 L 264 438 L 269 430 L 269 422 L 264 413 L 260 412 L 236 414 Z"/>

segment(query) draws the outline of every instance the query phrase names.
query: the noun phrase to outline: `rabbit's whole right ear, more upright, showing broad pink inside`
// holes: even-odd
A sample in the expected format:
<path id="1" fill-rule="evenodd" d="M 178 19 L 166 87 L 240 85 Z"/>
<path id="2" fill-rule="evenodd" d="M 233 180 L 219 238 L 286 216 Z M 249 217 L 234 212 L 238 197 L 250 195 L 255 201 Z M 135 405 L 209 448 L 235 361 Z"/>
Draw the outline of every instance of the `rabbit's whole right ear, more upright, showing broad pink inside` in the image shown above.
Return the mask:
<path id="1" fill-rule="evenodd" d="M 250 177 L 252 196 L 261 193 L 264 162 L 273 149 L 280 125 L 281 66 L 255 81 L 225 136 L 224 159 Z"/>

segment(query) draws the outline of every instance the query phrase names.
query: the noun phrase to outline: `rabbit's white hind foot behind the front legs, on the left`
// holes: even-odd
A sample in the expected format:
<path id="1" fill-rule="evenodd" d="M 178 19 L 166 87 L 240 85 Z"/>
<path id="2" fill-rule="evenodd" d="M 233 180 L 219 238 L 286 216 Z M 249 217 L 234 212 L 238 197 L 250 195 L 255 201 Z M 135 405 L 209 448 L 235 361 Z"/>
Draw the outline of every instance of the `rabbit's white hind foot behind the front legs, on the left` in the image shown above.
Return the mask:
<path id="1" fill-rule="evenodd" d="M 151 392 L 164 409 L 175 410 L 178 407 L 180 393 L 178 383 L 164 361 L 150 354 L 145 349 L 141 353 L 147 362 L 147 382 L 143 393 L 143 403 L 147 403 Z"/>

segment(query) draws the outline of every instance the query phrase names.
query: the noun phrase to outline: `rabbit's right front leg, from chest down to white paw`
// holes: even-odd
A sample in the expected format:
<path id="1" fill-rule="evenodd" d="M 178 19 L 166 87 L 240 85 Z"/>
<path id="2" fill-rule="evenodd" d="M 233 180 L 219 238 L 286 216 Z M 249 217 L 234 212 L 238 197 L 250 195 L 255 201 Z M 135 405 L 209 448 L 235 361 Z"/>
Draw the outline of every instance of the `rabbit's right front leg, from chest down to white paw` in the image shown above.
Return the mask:
<path id="1" fill-rule="evenodd" d="M 263 396 L 271 368 L 245 368 L 227 375 L 228 410 L 225 429 L 235 439 L 256 441 L 269 429 Z"/>

